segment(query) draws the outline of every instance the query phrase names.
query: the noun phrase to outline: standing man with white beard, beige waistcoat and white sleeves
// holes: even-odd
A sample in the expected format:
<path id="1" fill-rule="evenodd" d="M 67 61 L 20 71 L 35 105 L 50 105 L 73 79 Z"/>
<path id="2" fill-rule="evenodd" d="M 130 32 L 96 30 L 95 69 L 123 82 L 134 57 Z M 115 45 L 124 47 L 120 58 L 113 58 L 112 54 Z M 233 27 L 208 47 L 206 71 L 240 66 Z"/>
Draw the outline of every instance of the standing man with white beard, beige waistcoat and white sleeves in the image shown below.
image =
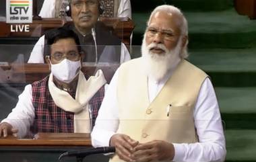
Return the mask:
<path id="1" fill-rule="evenodd" d="M 142 57 L 119 67 L 92 131 L 94 147 L 115 147 L 110 161 L 224 161 L 225 138 L 209 77 L 185 58 L 187 20 L 156 7 Z"/>

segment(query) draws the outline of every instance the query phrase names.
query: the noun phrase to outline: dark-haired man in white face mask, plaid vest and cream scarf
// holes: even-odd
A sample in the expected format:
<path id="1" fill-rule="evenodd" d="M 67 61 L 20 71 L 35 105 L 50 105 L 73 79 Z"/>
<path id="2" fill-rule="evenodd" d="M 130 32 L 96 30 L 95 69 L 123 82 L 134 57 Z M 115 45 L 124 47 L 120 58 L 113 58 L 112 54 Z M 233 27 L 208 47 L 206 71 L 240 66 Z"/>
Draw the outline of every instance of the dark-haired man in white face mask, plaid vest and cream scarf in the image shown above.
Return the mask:
<path id="1" fill-rule="evenodd" d="M 44 55 L 50 75 L 26 85 L 18 104 L 1 122 L 0 136 L 91 131 L 104 97 L 102 71 L 89 79 L 80 71 L 84 54 L 72 30 L 52 30 L 47 44 Z"/>

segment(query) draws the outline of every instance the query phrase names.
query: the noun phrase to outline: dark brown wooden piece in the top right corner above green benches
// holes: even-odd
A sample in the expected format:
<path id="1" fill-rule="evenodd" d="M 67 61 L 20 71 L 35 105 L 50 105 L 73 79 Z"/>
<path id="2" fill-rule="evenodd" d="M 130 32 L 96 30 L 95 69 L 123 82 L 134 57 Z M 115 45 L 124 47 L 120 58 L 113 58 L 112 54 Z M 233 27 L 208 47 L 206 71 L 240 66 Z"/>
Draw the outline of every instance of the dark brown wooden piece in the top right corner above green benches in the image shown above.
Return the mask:
<path id="1" fill-rule="evenodd" d="M 234 7 L 240 15 L 256 19 L 256 0 L 234 0 Z"/>

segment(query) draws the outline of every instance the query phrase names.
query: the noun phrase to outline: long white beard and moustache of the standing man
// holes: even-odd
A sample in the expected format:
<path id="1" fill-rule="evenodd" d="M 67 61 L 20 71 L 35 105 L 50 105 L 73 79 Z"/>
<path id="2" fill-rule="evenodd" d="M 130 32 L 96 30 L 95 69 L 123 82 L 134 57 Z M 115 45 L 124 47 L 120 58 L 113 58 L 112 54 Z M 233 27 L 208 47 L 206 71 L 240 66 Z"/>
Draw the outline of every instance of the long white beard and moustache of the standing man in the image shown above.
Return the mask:
<path id="1" fill-rule="evenodd" d="M 147 46 L 145 36 L 141 46 L 143 64 L 146 67 L 146 75 L 152 77 L 155 81 L 164 79 L 168 72 L 173 71 L 179 64 L 181 57 L 181 39 L 173 50 L 168 50 L 164 44 L 151 43 Z M 150 51 L 150 48 L 158 47 L 164 50 L 163 54 L 157 54 Z"/>

